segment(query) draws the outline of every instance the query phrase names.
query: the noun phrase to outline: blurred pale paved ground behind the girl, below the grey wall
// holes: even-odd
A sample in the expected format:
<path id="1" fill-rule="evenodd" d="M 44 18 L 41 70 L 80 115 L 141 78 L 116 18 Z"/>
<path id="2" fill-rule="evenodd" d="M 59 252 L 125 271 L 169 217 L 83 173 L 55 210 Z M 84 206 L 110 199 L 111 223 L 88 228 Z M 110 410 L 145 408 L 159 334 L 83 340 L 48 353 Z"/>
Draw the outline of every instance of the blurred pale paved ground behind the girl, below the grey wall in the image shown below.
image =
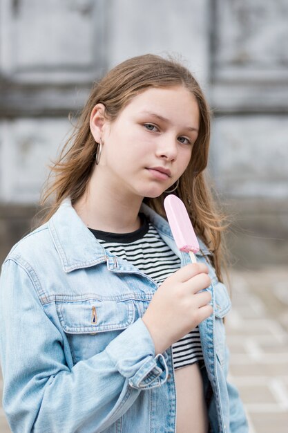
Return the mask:
<path id="1" fill-rule="evenodd" d="M 233 308 L 226 326 L 229 380 L 240 391 L 249 432 L 287 433 L 288 266 L 233 270 L 231 288 Z M 1 407 L 0 432 L 10 432 Z"/>

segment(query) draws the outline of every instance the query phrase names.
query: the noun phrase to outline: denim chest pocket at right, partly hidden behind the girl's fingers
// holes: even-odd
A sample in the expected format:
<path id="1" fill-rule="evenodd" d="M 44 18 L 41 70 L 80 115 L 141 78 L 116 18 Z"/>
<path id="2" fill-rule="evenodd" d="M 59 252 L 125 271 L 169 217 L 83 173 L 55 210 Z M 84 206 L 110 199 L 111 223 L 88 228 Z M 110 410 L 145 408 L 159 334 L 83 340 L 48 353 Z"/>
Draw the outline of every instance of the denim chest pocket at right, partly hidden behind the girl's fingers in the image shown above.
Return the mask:
<path id="1" fill-rule="evenodd" d="M 231 310 L 231 300 L 226 286 L 217 279 L 213 282 L 213 289 L 215 294 L 215 351 L 220 365 L 224 367 L 226 333 L 223 319 Z"/>

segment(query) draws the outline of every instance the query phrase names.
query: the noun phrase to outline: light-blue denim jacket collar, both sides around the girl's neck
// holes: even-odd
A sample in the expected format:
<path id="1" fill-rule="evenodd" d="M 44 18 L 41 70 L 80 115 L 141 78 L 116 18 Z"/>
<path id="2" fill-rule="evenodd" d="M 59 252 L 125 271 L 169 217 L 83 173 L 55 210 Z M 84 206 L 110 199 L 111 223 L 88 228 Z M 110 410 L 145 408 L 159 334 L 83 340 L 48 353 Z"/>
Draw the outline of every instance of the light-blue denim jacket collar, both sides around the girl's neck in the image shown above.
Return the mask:
<path id="1" fill-rule="evenodd" d="M 166 219 L 145 203 L 142 203 L 140 211 L 146 214 L 173 252 L 181 257 L 182 253 L 177 250 Z M 70 198 L 62 201 L 57 212 L 48 221 L 48 228 L 66 273 L 79 268 L 95 266 L 104 261 L 107 261 L 108 268 L 115 268 L 113 255 L 104 250 L 94 234 L 86 227 L 71 205 Z M 209 254 L 204 243 L 199 239 L 198 241 L 202 250 L 198 255 Z"/>

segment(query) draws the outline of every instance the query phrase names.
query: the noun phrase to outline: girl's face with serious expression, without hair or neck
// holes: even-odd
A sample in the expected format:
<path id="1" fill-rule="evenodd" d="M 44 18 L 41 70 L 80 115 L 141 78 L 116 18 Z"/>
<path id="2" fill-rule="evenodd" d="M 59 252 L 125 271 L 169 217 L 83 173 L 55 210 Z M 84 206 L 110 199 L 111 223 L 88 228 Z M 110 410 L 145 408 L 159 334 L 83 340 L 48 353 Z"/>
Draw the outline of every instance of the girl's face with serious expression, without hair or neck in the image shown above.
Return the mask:
<path id="1" fill-rule="evenodd" d="M 149 88 L 104 122 L 95 169 L 105 169 L 119 194 L 160 196 L 189 164 L 199 120 L 198 103 L 184 87 Z"/>

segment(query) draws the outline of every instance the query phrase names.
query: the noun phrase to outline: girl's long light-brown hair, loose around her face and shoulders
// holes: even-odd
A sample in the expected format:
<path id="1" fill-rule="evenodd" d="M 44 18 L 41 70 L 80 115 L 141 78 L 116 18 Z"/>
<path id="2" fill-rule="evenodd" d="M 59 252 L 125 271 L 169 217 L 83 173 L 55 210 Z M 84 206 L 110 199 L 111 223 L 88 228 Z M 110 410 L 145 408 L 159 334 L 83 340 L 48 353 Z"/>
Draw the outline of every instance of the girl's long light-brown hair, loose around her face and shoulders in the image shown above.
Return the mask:
<path id="1" fill-rule="evenodd" d="M 173 194 L 184 201 L 195 232 L 209 248 L 218 279 L 222 280 L 222 232 L 226 226 L 223 224 L 224 215 L 215 210 L 213 194 L 203 173 L 208 163 L 210 111 L 198 82 L 187 68 L 173 59 L 152 54 L 133 57 L 115 66 L 102 80 L 95 83 L 74 132 L 59 158 L 50 166 L 51 172 L 41 193 L 40 204 L 44 205 L 51 196 L 54 196 L 54 201 L 49 203 L 48 213 L 41 219 L 41 223 L 50 219 L 63 199 L 70 196 L 74 204 L 86 192 L 97 151 L 97 143 L 90 131 L 90 113 L 95 104 L 104 104 L 105 115 L 113 122 L 135 95 L 149 87 L 175 85 L 184 86 L 196 98 L 200 111 L 200 128 L 190 163 Z M 52 174 L 54 178 L 50 184 Z M 153 199 L 145 197 L 144 203 L 165 217 L 164 197 L 165 193 Z"/>

